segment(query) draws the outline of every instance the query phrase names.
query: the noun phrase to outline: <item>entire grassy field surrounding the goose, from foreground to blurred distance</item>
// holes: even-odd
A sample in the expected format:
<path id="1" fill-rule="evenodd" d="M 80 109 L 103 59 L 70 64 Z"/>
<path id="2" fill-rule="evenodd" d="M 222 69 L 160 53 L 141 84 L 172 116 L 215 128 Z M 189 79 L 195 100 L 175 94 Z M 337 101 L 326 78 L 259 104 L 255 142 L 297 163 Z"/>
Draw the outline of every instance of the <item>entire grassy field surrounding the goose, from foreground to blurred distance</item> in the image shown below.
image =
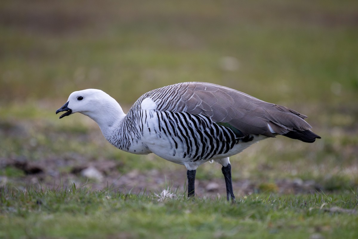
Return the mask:
<path id="1" fill-rule="evenodd" d="M 0 3 L 0 238 L 358 238 L 357 1 Z M 268 139 L 186 169 L 112 147 L 75 90 L 124 109 L 176 82 L 229 86 L 308 115 L 322 139 Z M 88 167 L 100 176 L 84 174 Z M 168 189 L 174 198 L 158 195 Z"/>

